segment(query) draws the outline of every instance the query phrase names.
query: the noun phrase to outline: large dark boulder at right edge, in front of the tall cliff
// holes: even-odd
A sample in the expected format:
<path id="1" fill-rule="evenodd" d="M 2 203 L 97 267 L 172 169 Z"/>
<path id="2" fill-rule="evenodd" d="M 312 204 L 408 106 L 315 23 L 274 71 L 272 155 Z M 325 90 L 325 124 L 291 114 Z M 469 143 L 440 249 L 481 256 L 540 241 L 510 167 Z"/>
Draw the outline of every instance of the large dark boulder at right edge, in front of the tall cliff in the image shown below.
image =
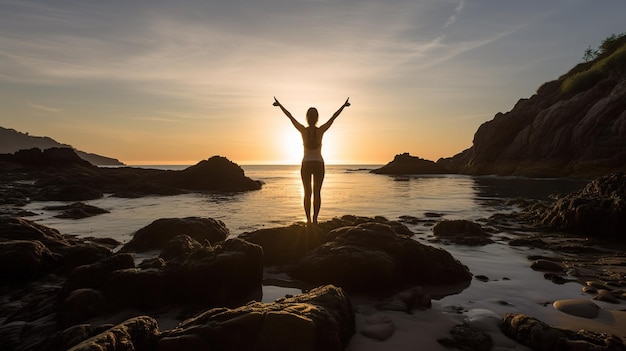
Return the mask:
<path id="1" fill-rule="evenodd" d="M 591 181 L 542 212 L 540 221 L 556 230 L 623 240 L 626 174 L 610 174 Z"/>

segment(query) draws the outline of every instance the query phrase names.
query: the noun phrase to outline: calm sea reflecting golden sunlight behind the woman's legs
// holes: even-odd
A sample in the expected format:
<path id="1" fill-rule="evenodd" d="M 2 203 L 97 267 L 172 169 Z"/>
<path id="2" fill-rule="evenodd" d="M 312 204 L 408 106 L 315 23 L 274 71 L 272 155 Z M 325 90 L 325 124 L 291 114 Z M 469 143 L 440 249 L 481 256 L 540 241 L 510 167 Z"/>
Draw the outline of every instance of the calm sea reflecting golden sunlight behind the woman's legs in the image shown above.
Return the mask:
<path id="1" fill-rule="evenodd" d="M 183 166 L 152 166 L 180 169 Z M 376 165 L 329 165 L 322 188 L 320 221 L 345 214 L 398 219 L 422 217 L 425 212 L 447 219 L 476 220 L 505 207 L 511 198 L 547 198 L 584 183 L 555 180 L 462 175 L 387 176 L 370 173 Z M 126 242 L 138 229 L 159 218 L 201 216 L 222 220 L 231 235 L 263 227 L 304 221 L 299 166 L 242 166 L 263 188 L 245 193 L 203 193 L 122 199 L 105 196 L 88 201 L 110 211 L 91 218 L 58 219 L 43 210 L 60 202 L 33 202 L 26 209 L 33 219 L 64 234 L 110 237 Z"/>

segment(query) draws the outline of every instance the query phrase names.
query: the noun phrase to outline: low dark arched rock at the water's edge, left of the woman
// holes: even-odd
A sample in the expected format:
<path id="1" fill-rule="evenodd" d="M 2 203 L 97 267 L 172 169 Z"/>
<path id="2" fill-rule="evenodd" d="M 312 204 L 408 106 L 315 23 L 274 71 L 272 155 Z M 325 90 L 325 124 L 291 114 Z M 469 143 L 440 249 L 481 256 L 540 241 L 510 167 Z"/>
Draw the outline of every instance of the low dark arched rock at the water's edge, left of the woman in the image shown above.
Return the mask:
<path id="1" fill-rule="evenodd" d="M 161 218 L 139 229 L 120 252 L 160 250 L 181 234 L 200 243 L 208 241 L 214 244 L 225 240 L 229 230 L 222 221 L 213 218 Z"/>

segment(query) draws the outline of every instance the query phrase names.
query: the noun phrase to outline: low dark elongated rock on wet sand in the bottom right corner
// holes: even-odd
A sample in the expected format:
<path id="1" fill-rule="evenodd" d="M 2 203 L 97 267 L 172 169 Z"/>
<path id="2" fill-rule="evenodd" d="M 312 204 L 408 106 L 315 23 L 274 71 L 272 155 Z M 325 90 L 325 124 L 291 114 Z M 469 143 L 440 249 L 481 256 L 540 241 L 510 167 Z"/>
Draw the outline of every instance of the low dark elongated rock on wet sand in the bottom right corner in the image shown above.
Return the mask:
<path id="1" fill-rule="evenodd" d="M 533 350 L 626 350 L 622 340 L 607 333 L 558 329 L 524 314 L 507 313 L 502 332 Z"/>

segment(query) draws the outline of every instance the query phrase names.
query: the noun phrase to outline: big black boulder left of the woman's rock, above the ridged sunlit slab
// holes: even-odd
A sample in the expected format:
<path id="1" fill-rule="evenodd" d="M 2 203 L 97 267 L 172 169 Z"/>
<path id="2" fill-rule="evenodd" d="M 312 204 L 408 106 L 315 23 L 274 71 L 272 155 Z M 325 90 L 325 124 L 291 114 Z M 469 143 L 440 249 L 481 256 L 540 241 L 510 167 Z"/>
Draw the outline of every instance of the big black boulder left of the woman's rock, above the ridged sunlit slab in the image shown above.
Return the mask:
<path id="1" fill-rule="evenodd" d="M 238 306 L 261 293 L 263 250 L 241 239 L 200 247 L 149 269 L 111 272 L 101 287 L 120 307 Z"/>

